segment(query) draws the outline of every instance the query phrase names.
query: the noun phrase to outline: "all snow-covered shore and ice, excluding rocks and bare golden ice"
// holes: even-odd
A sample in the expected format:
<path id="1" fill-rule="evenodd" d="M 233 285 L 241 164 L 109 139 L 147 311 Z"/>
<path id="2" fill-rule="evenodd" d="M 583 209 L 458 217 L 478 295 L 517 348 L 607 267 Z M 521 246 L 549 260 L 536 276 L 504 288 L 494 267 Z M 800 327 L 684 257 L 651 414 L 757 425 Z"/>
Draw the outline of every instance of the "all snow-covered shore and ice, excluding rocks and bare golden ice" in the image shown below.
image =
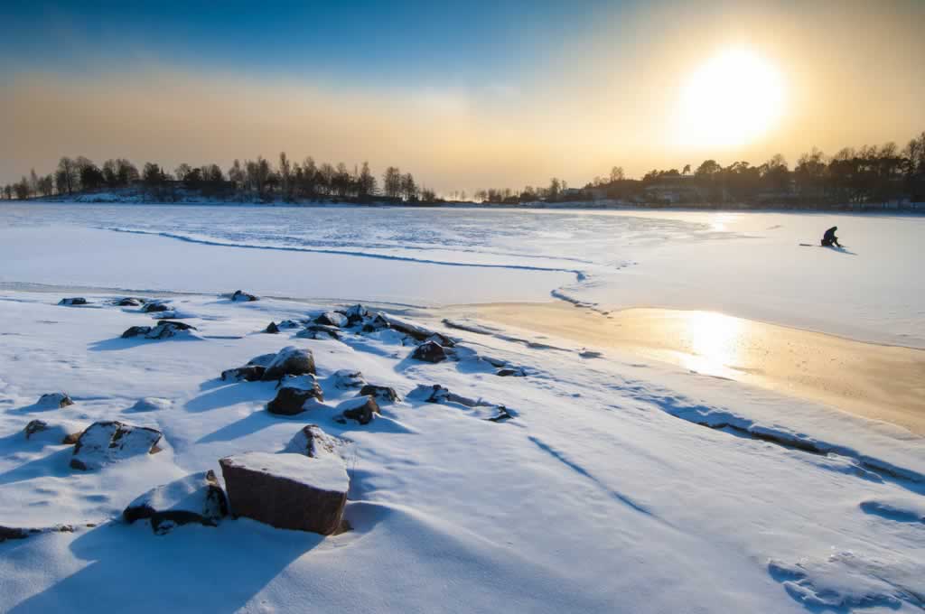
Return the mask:
<path id="1" fill-rule="evenodd" d="M 925 282 L 910 240 L 918 218 L 513 212 L 501 224 L 507 212 L 485 215 L 0 206 L 0 527 L 48 529 L 0 543 L 0 610 L 925 607 L 921 437 L 608 350 L 450 328 L 439 310 L 394 304 L 539 301 L 555 290 L 601 309 L 722 308 L 923 345 Z M 857 255 L 796 245 L 833 224 Z M 272 249 L 102 229 L 115 226 Z M 789 270 L 798 258 L 807 262 Z M 357 269 L 376 275 L 357 284 Z M 820 279 L 832 285 L 816 288 Z M 234 289 L 261 300 L 222 296 Z M 190 315 L 195 338 L 120 338 L 152 320 L 114 300 L 153 294 Z M 78 295 L 93 308 L 56 304 Z M 351 299 L 391 302 L 372 311 L 433 329 L 454 343 L 452 360 L 412 360 L 420 340 L 394 328 L 356 324 L 339 339 L 299 337 L 297 326 L 263 332 Z M 324 392 L 302 414 L 265 410 L 275 381 L 220 378 L 289 346 L 311 350 Z M 525 376 L 499 377 L 500 365 Z M 341 424 L 339 408 L 360 391 L 339 384 L 357 372 L 400 399 L 369 424 Z M 437 402 L 409 394 L 434 385 L 448 391 Z M 55 391 L 74 404 L 36 404 Z M 493 422 L 499 407 L 512 418 Z M 35 419 L 151 427 L 161 449 L 77 471 L 72 446 L 25 436 Z M 156 486 L 220 475 L 221 458 L 284 456 L 306 424 L 343 442 L 328 461 L 349 478 L 351 531 L 322 537 L 229 517 L 154 535 L 122 521 Z"/>

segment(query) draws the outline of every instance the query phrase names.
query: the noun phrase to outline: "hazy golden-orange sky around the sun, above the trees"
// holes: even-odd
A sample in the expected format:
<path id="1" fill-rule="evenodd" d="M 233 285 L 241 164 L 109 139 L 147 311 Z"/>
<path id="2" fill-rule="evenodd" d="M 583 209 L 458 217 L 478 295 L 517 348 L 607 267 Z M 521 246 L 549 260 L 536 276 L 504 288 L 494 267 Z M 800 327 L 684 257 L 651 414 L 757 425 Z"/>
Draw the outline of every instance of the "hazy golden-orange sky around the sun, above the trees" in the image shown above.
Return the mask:
<path id="1" fill-rule="evenodd" d="M 581 186 L 617 165 L 631 177 L 706 158 L 759 165 L 781 153 L 793 165 L 813 146 L 903 147 L 925 130 L 925 13 L 888 3 L 743 6 L 722 18 L 668 5 L 623 16 L 566 41 L 521 79 L 476 87 L 309 82 L 156 57 L 128 70 L 18 70 L 0 92 L 0 182 L 50 172 L 61 155 L 173 169 L 285 151 L 368 160 L 377 174 L 401 166 L 444 193 L 553 176 Z M 761 89 L 762 68 L 734 62 L 691 85 L 730 53 L 759 58 L 776 89 Z M 697 104 L 685 94 L 692 87 Z M 745 110 L 729 104 L 740 94 Z M 771 94 L 775 109 L 761 111 Z M 697 138 L 679 139 L 685 127 Z"/>

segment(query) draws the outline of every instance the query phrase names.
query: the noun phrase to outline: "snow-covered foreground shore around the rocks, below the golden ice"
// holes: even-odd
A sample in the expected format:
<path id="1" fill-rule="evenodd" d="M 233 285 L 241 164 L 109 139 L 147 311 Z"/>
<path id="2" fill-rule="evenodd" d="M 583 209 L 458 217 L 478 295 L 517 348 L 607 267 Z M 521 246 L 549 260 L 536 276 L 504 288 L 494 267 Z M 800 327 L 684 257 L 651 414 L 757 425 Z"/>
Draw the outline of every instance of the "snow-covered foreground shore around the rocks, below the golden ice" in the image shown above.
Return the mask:
<path id="1" fill-rule="evenodd" d="M 156 313 L 107 296 L 79 307 L 56 298 L 6 291 L 0 301 L 0 524 L 75 530 L 0 545 L 0 609 L 201 611 L 201 591 L 215 611 L 921 605 L 925 535 L 903 519 L 919 513 L 925 448 L 899 429 L 734 382 L 459 330 L 445 333 L 471 352 L 439 364 L 409 360 L 401 336 L 259 332 L 324 304 L 177 297 L 198 338 L 136 341 L 118 337 Z M 326 396 L 296 419 L 265 411 L 272 383 L 217 379 L 290 344 L 313 350 Z M 479 357 L 527 375 L 499 377 Z M 355 395 L 336 387 L 340 369 L 404 400 L 371 424 L 338 424 L 333 408 Z M 514 417 L 408 398 L 420 384 Z M 57 389 L 75 404 L 34 405 Z M 139 412 L 142 398 L 162 400 Z M 154 426 L 164 449 L 76 472 L 67 446 L 22 435 L 37 417 Z M 238 519 L 157 536 L 119 520 L 154 485 L 217 470 L 228 454 L 281 451 L 308 422 L 351 442 L 351 532 L 322 539 Z"/>

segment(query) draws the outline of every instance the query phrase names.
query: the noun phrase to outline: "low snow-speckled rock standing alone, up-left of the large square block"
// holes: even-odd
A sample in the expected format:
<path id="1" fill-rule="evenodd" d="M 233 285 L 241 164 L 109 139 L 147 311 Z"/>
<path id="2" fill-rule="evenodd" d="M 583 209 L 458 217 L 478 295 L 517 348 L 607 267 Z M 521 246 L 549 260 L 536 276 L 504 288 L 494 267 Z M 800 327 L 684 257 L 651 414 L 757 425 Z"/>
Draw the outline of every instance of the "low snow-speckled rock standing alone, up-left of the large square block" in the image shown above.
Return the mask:
<path id="1" fill-rule="evenodd" d="M 73 469 L 90 471 L 142 454 L 160 451 L 161 432 L 147 426 L 105 421 L 87 427 L 74 445 Z"/>

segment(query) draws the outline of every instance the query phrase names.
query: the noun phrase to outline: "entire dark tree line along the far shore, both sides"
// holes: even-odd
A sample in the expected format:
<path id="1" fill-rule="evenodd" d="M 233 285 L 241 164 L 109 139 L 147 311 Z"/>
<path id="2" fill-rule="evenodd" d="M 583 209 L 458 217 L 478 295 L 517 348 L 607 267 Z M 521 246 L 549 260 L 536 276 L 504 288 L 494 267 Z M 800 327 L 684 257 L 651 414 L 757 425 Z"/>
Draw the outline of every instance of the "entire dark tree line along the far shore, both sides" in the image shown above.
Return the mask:
<path id="1" fill-rule="evenodd" d="M 176 201 L 190 191 L 203 196 L 239 201 L 287 203 L 316 199 L 369 203 L 438 203 L 434 190 L 418 185 L 411 173 L 388 166 L 380 178 L 367 163 L 316 164 L 309 156 L 292 161 L 285 153 L 272 164 L 262 156 L 235 160 L 223 171 L 216 164 L 181 164 L 171 173 L 149 162 L 141 170 L 125 158 L 97 166 L 78 156 L 62 157 L 56 169 L 3 187 L 6 199 L 28 199 L 80 192 L 137 188 L 158 201 Z M 452 201 L 467 201 L 465 191 L 453 191 Z M 722 166 L 715 159 L 699 166 L 653 169 L 642 178 L 627 178 L 622 166 L 606 177 L 595 177 L 584 188 L 569 188 L 565 180 L 551 178 L 546 186 L 523 190 L 477 190 L 476 202 L 512 204 L 536 201 L 567 202 L 609 198 L 633 203 L 763 203 L 822 205 L 853 203 L 925 202 L 925 132 L 900 149 L 894 142 L 859 149 L 845 147 L 832 156 L 813 148 L 791 168 L 781 154 L 753 166 L 735 161 Z"/>

